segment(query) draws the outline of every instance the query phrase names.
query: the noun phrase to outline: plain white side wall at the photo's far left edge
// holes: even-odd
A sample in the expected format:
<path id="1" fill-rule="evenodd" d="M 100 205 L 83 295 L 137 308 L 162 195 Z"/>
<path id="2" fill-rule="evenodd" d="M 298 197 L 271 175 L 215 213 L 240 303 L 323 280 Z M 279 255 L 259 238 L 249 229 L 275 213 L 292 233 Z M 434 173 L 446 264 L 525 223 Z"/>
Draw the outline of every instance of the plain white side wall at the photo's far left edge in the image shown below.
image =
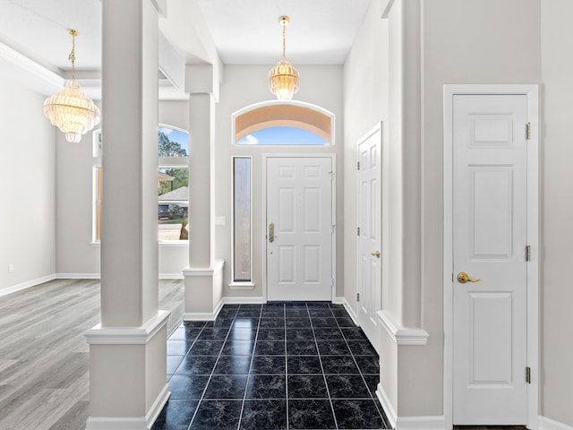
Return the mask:
<path id="1" fill-rule="evenodd" d="M 54 273 L 56 149 L 43 111 L 46 97 L 1 73 L 0 94 L 1 293 Z"/>

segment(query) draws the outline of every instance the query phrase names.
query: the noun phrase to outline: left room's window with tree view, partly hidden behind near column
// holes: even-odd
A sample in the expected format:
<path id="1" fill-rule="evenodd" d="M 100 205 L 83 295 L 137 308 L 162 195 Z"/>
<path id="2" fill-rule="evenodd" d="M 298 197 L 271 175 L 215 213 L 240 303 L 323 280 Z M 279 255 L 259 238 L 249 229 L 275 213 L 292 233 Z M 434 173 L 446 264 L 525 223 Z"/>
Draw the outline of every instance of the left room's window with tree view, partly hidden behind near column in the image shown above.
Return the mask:
<path id="1" fill-rule="evenodd" d="M 189 133 L 169 125 L 158 128 L 158 240 L 175 243 L 189 238 Z M 100 239 L 101 132 L 94 133 L 93 240 Z"/>

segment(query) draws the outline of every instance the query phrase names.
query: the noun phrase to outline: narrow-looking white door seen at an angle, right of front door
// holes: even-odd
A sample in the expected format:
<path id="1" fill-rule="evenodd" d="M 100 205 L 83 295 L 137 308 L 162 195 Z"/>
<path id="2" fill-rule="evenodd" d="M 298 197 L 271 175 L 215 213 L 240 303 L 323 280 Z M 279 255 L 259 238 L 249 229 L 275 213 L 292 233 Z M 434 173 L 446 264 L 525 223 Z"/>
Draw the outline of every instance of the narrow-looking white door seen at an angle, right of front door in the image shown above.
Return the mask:
<path id="1" fill-rule="evenodd" d="M 381 310 L 381 127 L 358 142 L 358 323 L 380 353 L 376 312 Z"/>

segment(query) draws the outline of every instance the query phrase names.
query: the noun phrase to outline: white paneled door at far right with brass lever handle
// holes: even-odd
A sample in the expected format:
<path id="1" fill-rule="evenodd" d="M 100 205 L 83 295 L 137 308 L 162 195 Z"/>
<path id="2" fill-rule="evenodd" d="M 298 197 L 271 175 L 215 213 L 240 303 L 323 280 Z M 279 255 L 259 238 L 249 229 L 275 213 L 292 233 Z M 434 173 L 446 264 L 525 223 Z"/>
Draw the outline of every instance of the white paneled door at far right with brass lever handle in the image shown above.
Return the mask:
<path id="1" fill-rule="evenodd" d="M 453 423 L 525 425 L 527 98 L 453 97 Z"/>

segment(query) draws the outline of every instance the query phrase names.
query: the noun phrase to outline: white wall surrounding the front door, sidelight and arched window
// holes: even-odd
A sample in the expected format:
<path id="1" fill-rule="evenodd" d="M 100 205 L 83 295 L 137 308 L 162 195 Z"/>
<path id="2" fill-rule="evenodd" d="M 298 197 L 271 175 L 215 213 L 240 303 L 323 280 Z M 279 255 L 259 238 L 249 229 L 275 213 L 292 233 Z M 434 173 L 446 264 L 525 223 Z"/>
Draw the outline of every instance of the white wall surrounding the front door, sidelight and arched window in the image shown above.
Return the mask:
<path id="1" fill-rule="evenodd" d="M 232 145 L 231 116 L 234 112 L 254 103 L 274 99 L 269 92 L 268 75 L 272 64 L 227 65 L 225 80 L 220 88 L 220 101 L 216 106 L 216 154 L 215 154 L 215 215 L 227 217 L 227 225 L 215 226 L 215 258 L 225 260 L 224 295 L 263 297 L 261 248 L 264 244 L 265 221 L 262 208 L 262 155 L 268 153 L 335 153 L 337 154 L 337 296 L 343 294 L 344 240 L 342 228 L 343 168 L 342 151 L 342 66 L 298 66 L 301 88 L 293 99 L 323 107 L 336 116 L 335 146 L 322 148 L 265 147 Z M 234 290 L 227 284 L 231 281 L 231 158 L 233 155 L 252 156 L 252 290 Z"/>

